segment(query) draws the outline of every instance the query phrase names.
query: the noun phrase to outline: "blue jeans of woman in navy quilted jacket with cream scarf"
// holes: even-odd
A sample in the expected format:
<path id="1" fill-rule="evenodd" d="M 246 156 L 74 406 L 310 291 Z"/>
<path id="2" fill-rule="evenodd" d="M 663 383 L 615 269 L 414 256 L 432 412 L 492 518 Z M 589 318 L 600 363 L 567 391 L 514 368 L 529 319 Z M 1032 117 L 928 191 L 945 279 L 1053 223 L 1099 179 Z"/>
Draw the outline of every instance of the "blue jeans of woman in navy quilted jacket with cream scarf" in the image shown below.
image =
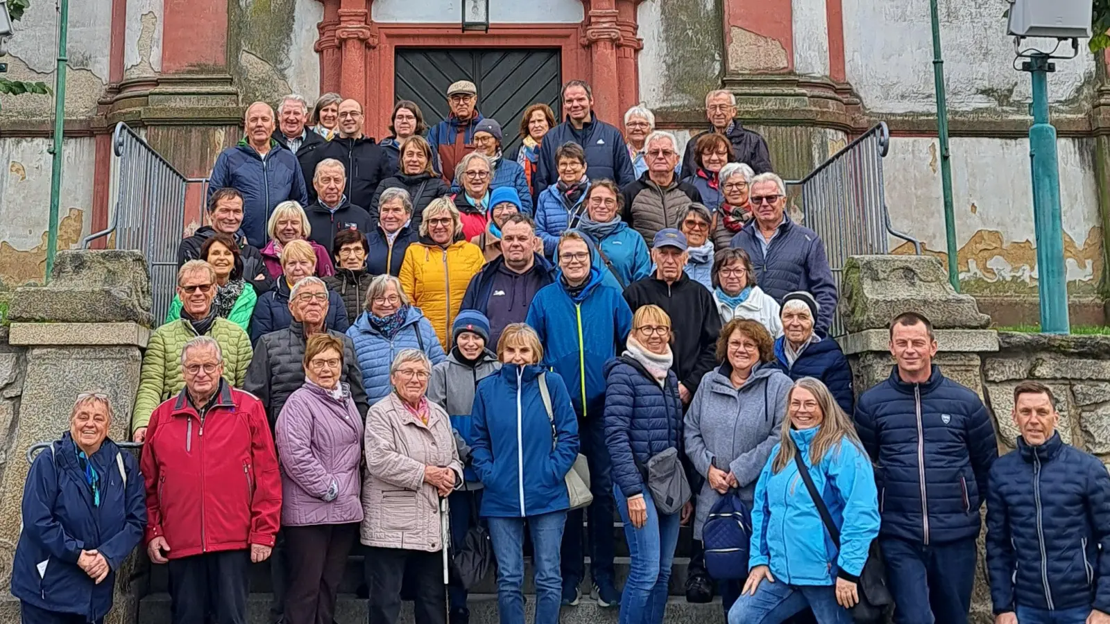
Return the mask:
<path id="1" fill-rule="evenodd" d="M 644 489 L 647 504 L 647 523 L 642 529 L 633 526 L 628 520 L 628 499 L 620 487 L 613 485 L 617 511 L 625 525 L 625 541 L 632 566 L 620 596 L 618 624 L 660 624 L 663 611 L 667 606 L 667 590 L 670 585 L 670 564 L 675 560 L 678 545 L 678 523 L 682 514 L 660 514 L 655 509 L 652 493 Z"/>

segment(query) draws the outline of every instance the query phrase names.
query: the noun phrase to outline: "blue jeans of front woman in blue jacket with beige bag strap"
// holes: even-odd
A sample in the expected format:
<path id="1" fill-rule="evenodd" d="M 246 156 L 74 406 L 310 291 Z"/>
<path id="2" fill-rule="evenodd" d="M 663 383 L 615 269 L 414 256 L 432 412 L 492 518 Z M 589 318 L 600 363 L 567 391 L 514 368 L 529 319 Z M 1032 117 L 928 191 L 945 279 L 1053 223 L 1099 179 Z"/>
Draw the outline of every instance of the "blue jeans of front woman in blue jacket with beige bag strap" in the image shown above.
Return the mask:
<path id="1" fill-rule="evenodd" d="M 563 577 L 559 547 L 566 512 L 523 517 L 487 517 L 493 554 L 497 558 L 497 613 L 502 624 L 524 624 L 524 525 L 532 535 L 536 568 L 535 624 L 558 624 Z"/>

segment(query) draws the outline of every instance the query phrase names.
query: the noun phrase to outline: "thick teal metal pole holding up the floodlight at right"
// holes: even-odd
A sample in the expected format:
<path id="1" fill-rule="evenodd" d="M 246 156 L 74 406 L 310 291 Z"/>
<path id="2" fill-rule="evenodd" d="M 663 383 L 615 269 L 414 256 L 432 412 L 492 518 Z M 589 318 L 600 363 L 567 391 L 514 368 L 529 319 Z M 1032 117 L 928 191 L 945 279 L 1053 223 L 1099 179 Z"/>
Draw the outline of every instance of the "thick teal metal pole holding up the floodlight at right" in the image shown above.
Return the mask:
<path id="1" fill-rule="evenodd" d="M 1033 232 L 1037 236 L 1037 283 L 1041 331 L 1069 333 L 1068 279 L 1063 265 L 1063 225 L 1060 217 L 1060 171 L 1056 128 L 1049 122 L 1048 74 L 1056 71 L 1047 54 L 1023 63 L 1033 79 L 1033 124 L 1029 128 L 1029 157 L 1033 179 Z"/>

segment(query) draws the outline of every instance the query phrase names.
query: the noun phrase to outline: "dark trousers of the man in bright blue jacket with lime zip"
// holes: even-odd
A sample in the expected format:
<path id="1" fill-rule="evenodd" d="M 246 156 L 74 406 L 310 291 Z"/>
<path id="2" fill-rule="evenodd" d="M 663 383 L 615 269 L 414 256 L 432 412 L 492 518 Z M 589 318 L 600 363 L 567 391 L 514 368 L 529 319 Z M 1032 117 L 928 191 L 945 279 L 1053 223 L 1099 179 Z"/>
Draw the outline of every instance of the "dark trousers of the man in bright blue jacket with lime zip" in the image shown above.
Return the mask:
<path id="1" fill-rule="evenodd" d="M 578 419 L 578 440 L 582 454 L 589 464 L 589 491 L 594 502 L 589 504 L 589 576 L 594 582 L 614 582 L 613 557 L 616 555 L 616 540 L 613 535 L 613 479 L 609 474 L 609 449 L 605 445 L 605 423 L 601 412 L 589 419 Z M 563 534 L 563 580 L 578 584 L 585 577 L 585 551 L 587 540 L 583 527 L 583 510 L 569 512 L 566 532 Z"/>

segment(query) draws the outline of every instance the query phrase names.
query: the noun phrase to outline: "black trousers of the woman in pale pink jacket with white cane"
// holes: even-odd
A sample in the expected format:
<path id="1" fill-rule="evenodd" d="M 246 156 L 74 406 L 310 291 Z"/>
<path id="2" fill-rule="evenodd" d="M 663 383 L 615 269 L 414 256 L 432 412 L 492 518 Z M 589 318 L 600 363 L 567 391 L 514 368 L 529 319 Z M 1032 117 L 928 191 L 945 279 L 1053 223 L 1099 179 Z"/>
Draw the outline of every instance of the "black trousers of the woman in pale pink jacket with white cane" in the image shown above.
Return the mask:
<path id="1" fill-rule="evenodd" d="M 447 586 L 443 583 L 443 552 L 367 547 L 370 624 L 396 624 L 401 615 L 401 585 L 406 568 L 416 594 L 416 624 L 446 624 Z"/>

